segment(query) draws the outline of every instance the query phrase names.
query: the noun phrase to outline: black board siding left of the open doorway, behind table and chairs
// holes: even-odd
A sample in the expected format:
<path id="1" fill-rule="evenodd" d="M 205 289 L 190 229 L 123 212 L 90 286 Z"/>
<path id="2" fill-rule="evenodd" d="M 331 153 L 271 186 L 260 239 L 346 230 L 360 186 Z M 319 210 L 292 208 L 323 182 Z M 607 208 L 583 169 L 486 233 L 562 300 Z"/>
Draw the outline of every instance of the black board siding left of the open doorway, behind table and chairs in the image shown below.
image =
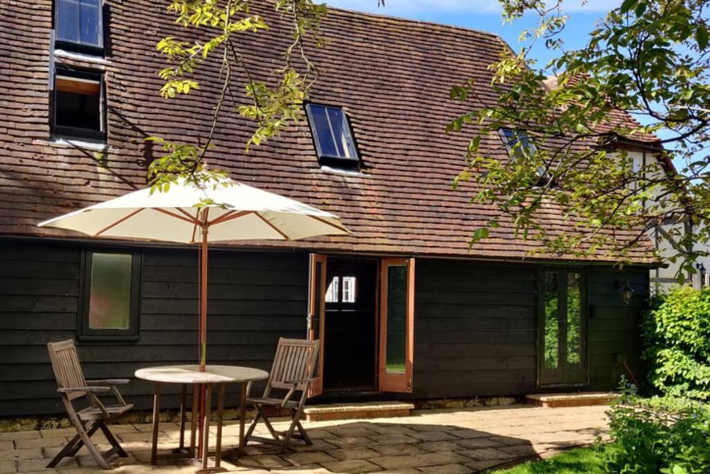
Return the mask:
<path id="1" fill-rule="evenodd" d="M 0 243 L 0 416 L 63 411 L 46 343 L 76 338 L 81 251 Z M 212 251 L 209 362 L 268 370 L 279 337 L 303 338 L 307 271 L 305 254 Z M 197 360 L 197 252 L 144 250 L 142 282 L 137 342 L 78 343 L 88 379 L 133 378 L 141 367 Z M 178 406 L 177 387 L 165 390 L 163 406 Z M 151 406 L 150 384 L 134 380 L 122 392 L 138 409 Z"/>

